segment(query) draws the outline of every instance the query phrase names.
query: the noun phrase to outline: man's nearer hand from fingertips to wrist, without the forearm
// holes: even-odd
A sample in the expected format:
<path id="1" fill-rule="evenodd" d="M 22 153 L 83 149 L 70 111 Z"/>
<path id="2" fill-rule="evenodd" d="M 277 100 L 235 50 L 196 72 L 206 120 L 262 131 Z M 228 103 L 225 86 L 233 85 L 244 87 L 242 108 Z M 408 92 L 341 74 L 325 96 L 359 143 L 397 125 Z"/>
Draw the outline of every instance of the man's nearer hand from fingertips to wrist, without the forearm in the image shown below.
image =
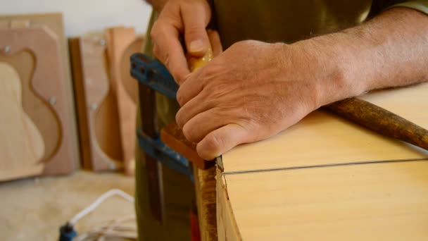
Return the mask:
<path id="1" fill-rule="evenodd" d="M 341 75 L 328 59 L 308 51 L 238 42 L 189 75 L 177 93 L 182 108 L 176 120 L 188 140 L 199 142 L 199 155 L 210 160 L 238 144 L 263 140 L 327 104 L 323 86 L 333 78 L 341 82 Z"/>

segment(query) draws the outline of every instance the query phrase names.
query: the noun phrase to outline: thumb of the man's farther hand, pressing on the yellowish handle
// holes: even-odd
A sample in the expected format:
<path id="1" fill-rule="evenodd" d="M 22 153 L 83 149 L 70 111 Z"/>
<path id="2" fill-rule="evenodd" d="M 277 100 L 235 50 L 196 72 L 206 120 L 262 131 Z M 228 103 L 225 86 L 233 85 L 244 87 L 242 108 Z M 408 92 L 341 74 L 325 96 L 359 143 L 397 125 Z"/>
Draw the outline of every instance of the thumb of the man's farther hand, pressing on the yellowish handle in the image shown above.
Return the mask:
<path id="1" fill-rule="evenodd" d="M 187 52 L 191 56 L 203 56 L 210 47 L 206 32 L 206 26 L 211 18 L 210 6 L 206 1 L 186 4 L 182 6 L 182 18 Z"/>

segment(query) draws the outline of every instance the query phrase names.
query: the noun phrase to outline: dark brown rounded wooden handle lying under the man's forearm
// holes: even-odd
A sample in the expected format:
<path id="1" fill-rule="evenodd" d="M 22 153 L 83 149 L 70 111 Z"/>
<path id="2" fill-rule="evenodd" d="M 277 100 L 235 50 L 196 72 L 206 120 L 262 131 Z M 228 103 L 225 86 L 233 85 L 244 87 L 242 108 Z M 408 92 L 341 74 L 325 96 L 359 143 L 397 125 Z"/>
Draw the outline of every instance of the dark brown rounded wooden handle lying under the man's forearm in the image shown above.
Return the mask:
<path id="1" fill-rule="evenodd" d="M 386 137 L 428 150 L 428 130 L 370 102 L 344 99 L 325 106 L 325 109 Z"/>

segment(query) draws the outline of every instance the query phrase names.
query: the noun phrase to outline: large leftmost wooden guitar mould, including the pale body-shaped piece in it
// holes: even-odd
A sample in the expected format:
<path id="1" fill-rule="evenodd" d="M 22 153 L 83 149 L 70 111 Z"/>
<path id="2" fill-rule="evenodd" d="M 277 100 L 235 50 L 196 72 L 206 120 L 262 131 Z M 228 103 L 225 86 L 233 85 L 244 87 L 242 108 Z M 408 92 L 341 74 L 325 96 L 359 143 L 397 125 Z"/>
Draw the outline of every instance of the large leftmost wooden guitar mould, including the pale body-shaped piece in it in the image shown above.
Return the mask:
<path id="1" fill-rule="evenodd" d="M 0 75 L 6 81 L 3 82 L 5 89 L 9 89 L 9 94 L 5 93 L 0 98 L 7 99 L 11 92 L 16 93 L 14 101 L 18 102 L 15 106 L 21 106 L 21 111 L 20 117 L 15 115 L 14 123 L 23 123 L 16 127 L 10 122 L 11 126 L 3 130 L 6 133 L 1 133 L 0 160 L 4 173 L 0 174 L 0 180 L 70 173 L 79 161 L 68 58 L 63 49 L 65 43 L 61 42 L 64 39 L 62 17 L 60 14 L 47 14 L 34 19 L 33 16 L 0 17 Z M 55 30 L 48 27 L 50 24 Z M 8 106 L 11 111 L 13 104 Z M 6 106 L 1 111 L 7 112 L 4 108 Z M 26 141 L 33 148 L 26 148 L 24 140 L 20 146 L 19 142 L 13 144 L 8 139 L 8 133 L 18 135 L 24 130 L 28 131 L 25 135 L 32 136 Z M 36 132 L 39 134 L 35 135 Z M 42 142 L 36 141 L 40 140 L 37 136 L 42 137 Z M 40 147 L 43 147 L 43 152 Z M 33 151 L 33 159 L 37 158 L 28 162 L 23 156 L 27 155 L 25 152 Z M 17 165 L 20 168 L 9 170 Z"/>

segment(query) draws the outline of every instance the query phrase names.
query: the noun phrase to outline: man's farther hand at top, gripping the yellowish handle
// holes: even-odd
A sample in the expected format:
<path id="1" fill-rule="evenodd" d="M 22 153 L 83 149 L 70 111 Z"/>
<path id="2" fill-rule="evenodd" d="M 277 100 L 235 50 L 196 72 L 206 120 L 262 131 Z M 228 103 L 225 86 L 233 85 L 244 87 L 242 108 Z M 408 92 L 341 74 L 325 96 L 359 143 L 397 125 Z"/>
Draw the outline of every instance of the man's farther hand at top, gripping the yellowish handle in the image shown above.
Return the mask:
<path id="1" fill-rule="evenodd" d="M 151 30 L 153 53 L 181 84 L 190 73 L 180 37 L 184 35 L 187 54 L 194 57 L 206 54 L 210 41 L 216 52 L 220 38 L 213 31 L 207 33 L 211 10 L 206 0 L 170 0 L 163 7 Z M 221 44 L 220 44 L 221 46 Z M 221 51 L 221 50 L 218 50 Z M 218 53 L 214 53 L 216 55 Z"/>

